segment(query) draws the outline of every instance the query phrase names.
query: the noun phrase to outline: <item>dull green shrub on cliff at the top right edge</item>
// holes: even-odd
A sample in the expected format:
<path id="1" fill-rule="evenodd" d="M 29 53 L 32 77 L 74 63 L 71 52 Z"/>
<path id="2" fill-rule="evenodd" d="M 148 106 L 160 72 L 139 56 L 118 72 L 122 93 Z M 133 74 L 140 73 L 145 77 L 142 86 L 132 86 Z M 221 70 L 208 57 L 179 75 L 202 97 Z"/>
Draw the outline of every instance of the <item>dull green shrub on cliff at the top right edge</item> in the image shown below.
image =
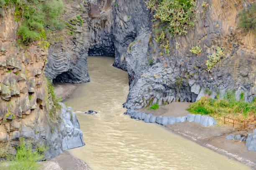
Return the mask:
<path id="1" fill-rule="evenodd" d="M 238 13 L 238 26 L 244 28 L 246 32 L 249 30 L 256 32 L 256 1 L 251 4 L 251 8 L 243 9 Z"/>

